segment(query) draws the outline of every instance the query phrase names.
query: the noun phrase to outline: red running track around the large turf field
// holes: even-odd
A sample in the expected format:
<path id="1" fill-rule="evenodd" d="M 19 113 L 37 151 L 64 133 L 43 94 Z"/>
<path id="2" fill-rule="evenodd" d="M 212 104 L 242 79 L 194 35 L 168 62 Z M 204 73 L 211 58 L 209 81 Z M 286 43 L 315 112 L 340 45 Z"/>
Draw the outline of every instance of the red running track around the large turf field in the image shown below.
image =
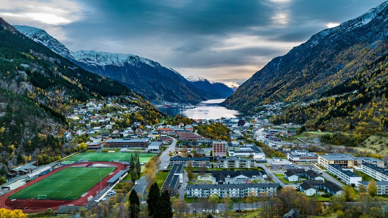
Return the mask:
<path id="1" fill-rule="evenodd" d="M 54 169 L 50 173 L 47 173 L 41 177 L 38 177 L 37 179 L 34 179 L 31 182 L 28 182 L 25 185 L 18 187 L 17 189 L 14 189 L 14 190 L 0 196 L 0 208 L 6 208 L 6 209 L 11 209 L 11 210 L 18 209 L 18 210 L 22 210 L 24 213 L 36 213 L 36 212 L 40 212 L 40 211 L 45 211 L 49 208 L 56 211 L 56 210 L 58 210 L 59 206 L 62 206 L 62 205 L 84 206 L 88 203 L 88 197 L 91 195 L 95 196 L 96 192 L 99 191 L 99 189 L 100 189 L 99 183 L 97 183 L 95 186 L 93 186 L 91 189 L 89 189 L 87 195 L 85 195 L 84 197 L 80 197 L 79 199 L 74 200 L 74 201 L 72 201 L 72 200 L 67 200 L 67 201 L 66 200 L 44 200 L 44 199 L 40 199 L 40 200 L 38 200 L 38 199 L 12 199 L 11 200 L 11 199 L 8 199 L 8 197 L 14 193 L 26 188 L 26 187 L 34 184 L 34 183 L 37 183 L 37 182 L 47 178 L 48 176 L 53 175 L 54 173 L 56 173 L 62 169 L 65 169 L 67 167 L 80 166 L 80 165 L 84 165 L 84 167 L 86 167 L 86 166 L 91 165 L 92 163 L 93 164 L 100 163 L 100 164 L 114 165 L 117 167 L 113 171 L 114 172 L 113 174 L 108 175 L 101 180 L 102 188 L 105 188 L 106 186 L 108 186 L 107 182 L 110 178 L 113 177 L 113 175 L 115 175 L 120 170 L 124 170 L 123 164 L 115 163 L 115 162 L 87 162 L 87 163 L 77 163 L 77 164 L 66 165 L 66 166 Z"/>

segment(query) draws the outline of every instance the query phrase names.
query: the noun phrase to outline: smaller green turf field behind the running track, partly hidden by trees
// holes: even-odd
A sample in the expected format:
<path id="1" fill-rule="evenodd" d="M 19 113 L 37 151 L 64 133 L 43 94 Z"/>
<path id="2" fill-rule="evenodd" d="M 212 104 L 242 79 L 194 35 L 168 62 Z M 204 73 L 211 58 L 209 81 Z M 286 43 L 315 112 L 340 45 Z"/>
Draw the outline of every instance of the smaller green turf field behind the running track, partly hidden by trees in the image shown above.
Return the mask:
<path id="1" fill-rule="evenodd" d="M 153 153 L 139 153 L 140 163 L 147 163 Z M 129 161 L 131 158 L 131 153 L 81 153 L 67 161 L 80 161 L 80 160 L 89 160 L 89 161 L 110 161 L 110 160 L 119 160 L 119 161 Z"/>

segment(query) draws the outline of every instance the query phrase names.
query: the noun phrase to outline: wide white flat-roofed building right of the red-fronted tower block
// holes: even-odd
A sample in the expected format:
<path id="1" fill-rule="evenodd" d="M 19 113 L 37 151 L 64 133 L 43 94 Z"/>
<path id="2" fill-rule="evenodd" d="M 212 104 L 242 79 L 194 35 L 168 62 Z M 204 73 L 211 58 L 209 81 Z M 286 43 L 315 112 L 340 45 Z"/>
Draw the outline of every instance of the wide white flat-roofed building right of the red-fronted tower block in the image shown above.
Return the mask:
<path id="1" fill-rule="evenodd" d="M 255 161 L 265 161 L 263 150 L 255 144 L 239 145 L 228 142 L 226 145 L 230 157 L 252 157 Z"/>

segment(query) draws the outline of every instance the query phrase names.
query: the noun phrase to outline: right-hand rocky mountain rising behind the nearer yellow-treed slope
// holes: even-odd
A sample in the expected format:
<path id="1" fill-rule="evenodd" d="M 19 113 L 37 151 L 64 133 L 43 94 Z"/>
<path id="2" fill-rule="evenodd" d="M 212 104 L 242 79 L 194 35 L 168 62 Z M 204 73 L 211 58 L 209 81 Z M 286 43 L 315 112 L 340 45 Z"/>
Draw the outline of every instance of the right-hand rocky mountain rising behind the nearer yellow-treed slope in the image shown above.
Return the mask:
<path id="1" fill-rule="evenodd" d="M 386 53 L 387 5 L 313 35 L 284 56 L 274 58 L 242 84 L 223 104 L 255 110 L 274 100 L 319 98 L 325 91 L 354 77 L 360 68 Z"/>

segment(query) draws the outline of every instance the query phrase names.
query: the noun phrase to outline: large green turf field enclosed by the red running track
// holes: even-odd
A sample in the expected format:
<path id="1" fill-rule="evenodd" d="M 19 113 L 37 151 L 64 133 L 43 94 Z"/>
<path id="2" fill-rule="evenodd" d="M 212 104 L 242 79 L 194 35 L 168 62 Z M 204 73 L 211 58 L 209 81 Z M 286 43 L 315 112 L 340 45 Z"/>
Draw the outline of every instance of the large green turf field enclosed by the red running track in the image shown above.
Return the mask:
<path id="1" fill-rule="evenodd" d="M 104 178 L 114 169 L 113 167 L 68 167 L 16 192 L 9 198 L 37 199 L 39 195 L 46 195 L 47 199 L 76 200 L 96 185 L 100 178 Z M 101 174 L 101 177 L 99 174 Z M 90 194 L 93 196 L 96 195 L 96 193 Z"/>

